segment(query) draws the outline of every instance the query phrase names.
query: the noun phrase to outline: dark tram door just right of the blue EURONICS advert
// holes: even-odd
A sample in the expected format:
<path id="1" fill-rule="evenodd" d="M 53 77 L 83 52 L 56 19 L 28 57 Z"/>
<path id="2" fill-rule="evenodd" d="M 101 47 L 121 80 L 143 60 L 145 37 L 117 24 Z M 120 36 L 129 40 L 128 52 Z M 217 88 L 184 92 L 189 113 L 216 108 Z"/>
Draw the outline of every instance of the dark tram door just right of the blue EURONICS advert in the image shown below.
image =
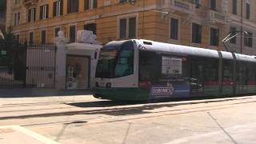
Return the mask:
<path id="1" fill-rule="evenodd" d="M 203 63 L 194 59 L 191 61 L 190 95 L 203 94 Z"/>

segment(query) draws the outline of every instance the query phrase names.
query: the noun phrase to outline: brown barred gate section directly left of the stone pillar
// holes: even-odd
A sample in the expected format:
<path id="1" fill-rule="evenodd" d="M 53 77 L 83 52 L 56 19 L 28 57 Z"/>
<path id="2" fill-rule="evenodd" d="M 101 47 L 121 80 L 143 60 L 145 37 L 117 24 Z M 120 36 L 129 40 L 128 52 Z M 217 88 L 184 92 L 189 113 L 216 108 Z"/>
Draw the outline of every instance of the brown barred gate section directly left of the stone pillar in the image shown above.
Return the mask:
<path id="1" fill-rule="evenodd" d="M 26 87 L 55 87 L 56 51 L 54 44 L 30 44 L 26 47 Z"/>

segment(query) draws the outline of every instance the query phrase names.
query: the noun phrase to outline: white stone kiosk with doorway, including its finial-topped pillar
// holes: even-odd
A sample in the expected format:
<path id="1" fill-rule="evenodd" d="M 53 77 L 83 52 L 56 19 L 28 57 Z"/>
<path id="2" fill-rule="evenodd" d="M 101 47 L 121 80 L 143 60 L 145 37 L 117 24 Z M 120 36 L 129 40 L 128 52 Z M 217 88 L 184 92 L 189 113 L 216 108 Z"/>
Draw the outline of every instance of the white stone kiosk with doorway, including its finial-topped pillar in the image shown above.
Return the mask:
<path id="1" fill-rule="evenodd" d="M 79 30 L 77 41 L 67 44 L 62 31 L 55 39 L 56 88 L 58 90 L 84 90 L 94 86 L 95 70 L 102 43 L 89 30 Z"/>

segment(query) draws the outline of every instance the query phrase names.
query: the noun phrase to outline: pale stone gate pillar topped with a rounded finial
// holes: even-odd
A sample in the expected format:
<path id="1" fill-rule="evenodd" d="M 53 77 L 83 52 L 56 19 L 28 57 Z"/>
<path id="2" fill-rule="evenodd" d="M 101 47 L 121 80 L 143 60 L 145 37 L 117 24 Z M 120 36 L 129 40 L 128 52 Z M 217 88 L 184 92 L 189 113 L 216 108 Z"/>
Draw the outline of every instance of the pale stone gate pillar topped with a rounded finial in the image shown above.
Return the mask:
<path id="1" fill-rule="evenodd" d="M 62 31 L 58 32 L 58 37 L 54 40 L 57 46 L 56 54 L 56 89 L 65 90 L 66 89 L 66 42 L 67 38 L 64 38 L 64 33 Z"/>

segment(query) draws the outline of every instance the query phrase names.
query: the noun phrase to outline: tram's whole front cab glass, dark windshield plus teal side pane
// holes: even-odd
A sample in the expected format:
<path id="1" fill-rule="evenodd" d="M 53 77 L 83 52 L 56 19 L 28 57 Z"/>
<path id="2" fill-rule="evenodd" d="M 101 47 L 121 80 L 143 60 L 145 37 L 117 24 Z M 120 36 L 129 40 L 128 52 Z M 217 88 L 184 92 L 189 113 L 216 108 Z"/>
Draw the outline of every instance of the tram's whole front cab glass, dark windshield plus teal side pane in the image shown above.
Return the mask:
<path id="1" fill-rule="evenodd" d="M 100 52 L 96 78 L 120 78 L 134 73 L 133 42 L 108 44 Z"/>

